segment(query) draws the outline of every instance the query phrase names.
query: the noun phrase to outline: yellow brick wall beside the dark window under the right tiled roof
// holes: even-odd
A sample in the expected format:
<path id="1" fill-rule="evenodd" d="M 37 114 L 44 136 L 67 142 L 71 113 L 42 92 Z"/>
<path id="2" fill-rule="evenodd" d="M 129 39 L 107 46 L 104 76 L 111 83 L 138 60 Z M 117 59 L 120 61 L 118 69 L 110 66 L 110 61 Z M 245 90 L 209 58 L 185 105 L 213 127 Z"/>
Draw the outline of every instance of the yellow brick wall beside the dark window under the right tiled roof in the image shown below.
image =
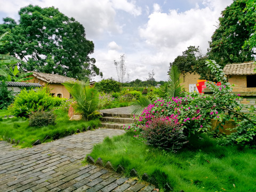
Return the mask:
<path id="1" fill-rule="evenodd" d="M 256 87 L 247 87 L 246 82 L 246 75 L 234 75 L 228 77 L 228 82 L 232 85 L 235 84 L 233 87 L 233 92 L 252 92 L 256 91 Z"/>

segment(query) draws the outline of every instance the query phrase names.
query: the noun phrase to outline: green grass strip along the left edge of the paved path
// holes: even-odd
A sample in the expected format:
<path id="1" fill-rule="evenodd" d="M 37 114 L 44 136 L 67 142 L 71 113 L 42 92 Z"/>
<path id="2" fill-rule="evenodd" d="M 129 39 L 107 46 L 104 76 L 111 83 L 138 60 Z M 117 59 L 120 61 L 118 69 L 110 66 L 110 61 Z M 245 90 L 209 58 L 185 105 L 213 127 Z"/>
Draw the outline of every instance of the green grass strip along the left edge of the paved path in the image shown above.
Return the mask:
<path id="1" fill-rule="evenodd" d="M 0 138 L 4 140 L 8 138 L 15 139 L 15 141 L 20 140 L 20 147 L 31 147 L 37 139 L 42 142 L 46 135 L 49 135 L 50 138 L 45 142 L 49 142 L 74 134 L 77 129 L 85 131 L 88 126 L 98 127 L 100 125 L 99 119 L 89 122 L 83 120 L 69 121 L 67 113 L 61 109 L 56 109 L 54 113 L 57 115 L 57 124 L 43 127 L 30 127 L 28 119 L 16 117 L 2 119 L 0 120 Z"/>

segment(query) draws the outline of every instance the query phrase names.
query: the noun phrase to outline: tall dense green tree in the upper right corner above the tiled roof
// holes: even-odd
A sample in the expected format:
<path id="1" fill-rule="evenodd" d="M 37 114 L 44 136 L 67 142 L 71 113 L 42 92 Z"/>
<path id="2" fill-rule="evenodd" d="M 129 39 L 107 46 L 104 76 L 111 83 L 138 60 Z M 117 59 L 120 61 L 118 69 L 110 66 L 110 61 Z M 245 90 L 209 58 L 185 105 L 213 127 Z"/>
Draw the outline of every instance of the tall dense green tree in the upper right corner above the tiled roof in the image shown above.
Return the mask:
<path id="1" fill-rule="evenodd" d="M 253 34 L 255 17 L 252 12 L 244 11 L 246 1 L 234 0 L 222 11 L 219 26 L 212 35 L 209 58 L 223 67 L 227 63 L 251 61 L 256 55 L 253 47 L 246 45 Z"/>

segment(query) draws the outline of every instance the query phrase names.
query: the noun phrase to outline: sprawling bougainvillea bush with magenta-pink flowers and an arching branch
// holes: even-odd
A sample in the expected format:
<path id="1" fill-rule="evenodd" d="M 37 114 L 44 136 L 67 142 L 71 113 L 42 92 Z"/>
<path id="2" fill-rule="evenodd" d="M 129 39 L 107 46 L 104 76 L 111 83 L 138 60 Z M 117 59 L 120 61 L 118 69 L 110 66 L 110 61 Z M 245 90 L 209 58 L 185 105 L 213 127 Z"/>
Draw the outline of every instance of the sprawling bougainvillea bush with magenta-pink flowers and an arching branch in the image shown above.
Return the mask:
<path id="1" fill-rule="evenodd" d="M 255 119 L 253 118 L 254 111 L 250 114 L 241 113 L 241 109 L 245 107 L 237 102 L 241 97 L 239 97 L 239 94 L 231 93 L 232 88 L 220 66 L 214 61 L 207 61 L 206 65 L 215 74 L 216 80 L 221 82 L 220 86 L 213 82 L 206 82 L 206 86 L 213 92 L 212 95 L 193 92 L 185 94 L 185 97 L 157 99 L 153 104 L 146 107 L 140 116 L 134 116 L 134 118 L 138 119 L 138 123 L 124 128 L 126 130 L 141 131 L 143 135 L 155 118 L 164 118 L 167 121 L 171 119 L 174 124 L 181 127 L 180 130 L 182 130 L 183 134 L 189 137 L 190 134 L 195 134 L 196 132 L 212 131 L 212 119 L 217 119 L 221 122 L 220 126 L 230 119 L 233 119 L 237 124 L 245 121 L 250 124 L 250 127 L 255 126 L 255 121 L 253 121 Z M 244 143 L 242 142 L 243 140 L 246 143 L 250 143 L 247 140 L 252 140 L 256 135 L 255 129 L 253 130 L 250 130 L 251 135 L 246 135 L 249 133 L 244 131 L 244 134 L 235 139 L 233 138 L 233 140 L 235 140 L 235 143 Z M 159 132 L 159 134 L 162 133 Z M 234 133 L 234 136 L 235 134 L 237 133 Z"/>

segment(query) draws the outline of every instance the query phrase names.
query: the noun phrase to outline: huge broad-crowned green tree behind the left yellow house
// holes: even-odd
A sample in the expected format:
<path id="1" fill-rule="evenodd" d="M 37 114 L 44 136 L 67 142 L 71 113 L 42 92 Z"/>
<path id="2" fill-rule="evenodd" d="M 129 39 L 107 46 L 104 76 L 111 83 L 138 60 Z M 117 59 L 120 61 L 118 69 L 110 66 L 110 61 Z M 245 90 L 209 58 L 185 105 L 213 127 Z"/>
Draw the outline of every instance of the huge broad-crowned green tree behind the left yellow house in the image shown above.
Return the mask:
<path id="1" fill-rule="evenodd" d="M 9 43 L 0 51 L 25 61 L 19 67 L 78 79 L 102 76 L 95 59 L 89 58 L 94 44 L 85 38 L 81 23 L 54 7 L 29 5 L 20 9 L 19 15 L 18 25 L 5 18 L 0 26 L 11 30 Z"/>

